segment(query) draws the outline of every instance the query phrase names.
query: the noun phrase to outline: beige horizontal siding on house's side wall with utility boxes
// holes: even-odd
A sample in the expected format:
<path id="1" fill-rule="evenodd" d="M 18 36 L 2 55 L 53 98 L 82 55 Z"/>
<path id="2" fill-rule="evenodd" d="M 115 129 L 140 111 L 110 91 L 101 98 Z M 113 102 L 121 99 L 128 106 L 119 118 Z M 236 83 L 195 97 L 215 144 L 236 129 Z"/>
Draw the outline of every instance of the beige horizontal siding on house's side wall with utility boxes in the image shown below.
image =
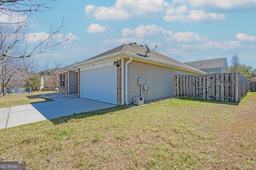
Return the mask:
<path id="1" fill-rule="evenodd" d="M 148 90 L 142 90 L 144 100 L 174 96 L 174 75 L 177 71 L 190 74 L 182 70 L 132 61 L 128 64 L 128 102 L 132 103 L 134 97 L 140 96 L 138 78 L 143 78 L 144 84 L 148 86 Z"/>

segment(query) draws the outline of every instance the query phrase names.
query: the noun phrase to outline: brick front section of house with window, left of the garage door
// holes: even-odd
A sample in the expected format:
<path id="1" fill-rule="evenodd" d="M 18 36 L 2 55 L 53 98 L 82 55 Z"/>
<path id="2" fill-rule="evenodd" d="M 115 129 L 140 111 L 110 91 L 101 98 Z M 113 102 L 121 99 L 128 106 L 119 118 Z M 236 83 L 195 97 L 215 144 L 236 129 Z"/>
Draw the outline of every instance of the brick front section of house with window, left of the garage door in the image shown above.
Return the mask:
<path id="1" fill-rule="evenodd" d="M 59 92 L 64 94 L 78 93 L 78 71 L 73 65 L 62 68 L 56 72 L 59 74 Z"/>

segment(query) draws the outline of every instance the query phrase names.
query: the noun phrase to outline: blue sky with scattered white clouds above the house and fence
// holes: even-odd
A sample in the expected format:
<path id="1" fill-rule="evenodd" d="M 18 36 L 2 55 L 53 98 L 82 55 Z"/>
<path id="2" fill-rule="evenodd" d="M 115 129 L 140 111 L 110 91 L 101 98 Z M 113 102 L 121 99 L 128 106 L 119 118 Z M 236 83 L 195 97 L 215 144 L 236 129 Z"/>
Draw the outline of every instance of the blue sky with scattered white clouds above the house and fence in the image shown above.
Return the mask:
<path id="1" fill-rule="evenodd" d="M 150 49 L 184 62 L 227 58 L 256 68 L 256 0 L 74 0 L 51 2 L 42 21 L 26 29 L 34 47 L 64 18 L 55 36 L 72 35 L 61 49 L 34 56 L 41 65 L 54 60 L 68 66 L 123 44 Z M 37 16 L 37 17 L 38 17 Z"/>

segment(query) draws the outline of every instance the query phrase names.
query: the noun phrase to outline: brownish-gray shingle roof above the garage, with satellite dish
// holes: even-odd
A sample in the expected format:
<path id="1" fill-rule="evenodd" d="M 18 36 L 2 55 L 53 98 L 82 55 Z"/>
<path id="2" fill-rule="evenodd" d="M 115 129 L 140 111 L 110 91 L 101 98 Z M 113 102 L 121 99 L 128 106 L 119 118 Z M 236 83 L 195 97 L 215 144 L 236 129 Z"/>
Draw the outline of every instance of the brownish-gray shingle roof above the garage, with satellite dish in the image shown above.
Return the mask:
<path id="1" fill-rule="evenodd" d="M 130 44 L 123 44 L 119 47 L 116 47 L 114 49 L 111 49 L 109 51 L 106 51 L 100 55 L 96 55 L 95 57 L 92 57 L 90 59 L 87 59 L 85 61 L 90 61 L 92 59 L 96 59 L 96 58 L 99 58 L 99 57 L 103 57 L 105 55 L 110 55 L 112 53 L 116 53 L 116 52 L 119 52 L 119 51 L 124 51 L 124 52 L 127 52 L 127 53 L 132 53 L 132 54 L 139 54 L 139 55 L 145 55 L 145 51 L 146 51 L 146 47 L 143 47 L 143 46 L 140 46 L 140 45 L 137 45 L 136 43 L 130 43 Z M 181 63 L 179 61 L 176 61 L 170 57 L 167 57 L 165 55 L 162 55 L 160 53 L 157 53 L 155 51 L 151 51 L 149 54 L 148 54 L 148 57 L 151 58 L 151 59 L 155 59 L 155 60 L 158 60 L 158 61 L 162 61 L 162 62 L 165 62 L 165 63 L 170 63 L 170 64 L 174 64 L 174 65 L 177 65 L 177 66 L 182 66 L 182 67 L 185 67 L 185 68 L 189 68 L 189 69 L 193 69 L 193 70 L 197 70 L 197 71 L 200 71 L 198 70 L 197 68 L 194 68 L 192 66 L 189 66 L 187 64 L 184 64 L 184 63 Z M 82 62 L 81 62 L 82 63 Z"/>

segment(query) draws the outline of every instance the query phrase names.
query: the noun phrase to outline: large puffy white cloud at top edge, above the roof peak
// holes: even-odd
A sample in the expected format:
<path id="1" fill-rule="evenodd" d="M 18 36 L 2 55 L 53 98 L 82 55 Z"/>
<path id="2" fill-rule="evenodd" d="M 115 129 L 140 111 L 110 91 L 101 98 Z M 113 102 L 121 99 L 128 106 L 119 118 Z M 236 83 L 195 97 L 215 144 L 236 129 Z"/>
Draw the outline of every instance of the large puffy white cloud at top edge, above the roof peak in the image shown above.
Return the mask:
<path id="1" fill-rule="evenodd" d="M 111 7 L 87 5 L 85 13 L 96 20 L 123 20 L 132 16 L 152 17 L 168 6 L 164 0 L 117 0 Z"/>

